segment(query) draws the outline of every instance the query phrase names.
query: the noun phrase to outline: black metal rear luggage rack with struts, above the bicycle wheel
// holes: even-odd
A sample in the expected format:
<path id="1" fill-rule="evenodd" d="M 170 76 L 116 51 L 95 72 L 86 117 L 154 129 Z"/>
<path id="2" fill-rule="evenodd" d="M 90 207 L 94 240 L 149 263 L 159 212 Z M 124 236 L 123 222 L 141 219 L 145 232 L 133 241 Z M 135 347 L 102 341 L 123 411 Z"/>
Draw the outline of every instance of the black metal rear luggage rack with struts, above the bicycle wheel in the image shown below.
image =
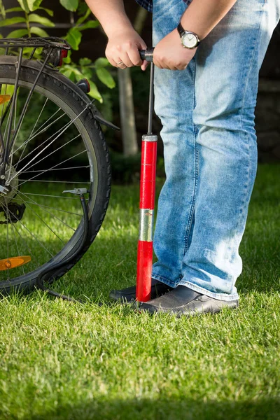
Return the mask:
<path id="1" fill-rule="evenodd" d="M 38 79 L 43 73 L 45 66 L 51 66 L 52 69 L 55 69 L 57 66 L 61 65 L 63 57 L 66 57 L 67 51 L 71 49 L 71 46 L 64 39 L 53 36 L 49 38 L 3 38 L 0 39 L 0 48 L 3 48 L 5 50 L 4 55 L 18 55 L 14 92 L 9 99 L 8 105 L 6 106 L 6 111 L 3 113 L 3 116 L 0 119 L 0 147 L 2 148 L 2 158 L 0 161 L 0 178 L 4 179 L 10 152 L 13 149 L 15 139 L 17 138 L 20 126 L 22 125 L 22 120 L 25 117 L 27 106 L 29 105 L 31 96 L 34 92 Z M 28 59 L 33 59 L 37 48 L 43 48 L 43 61 L 41 62 L 41 69 L 38 71 L 38 75 L 36 76 L 36 80 L 34 80 L 34 83 L 26 99 L 25 105 L 22 108 L 22 113 L 20 114 L 20 118 L 18 119 L 18 124 L 15 127 L 15 130 L 12 132 L 13 116 L 15 113 L 15 102 L 19 87 L 20 71 L 22 69 L 22 59 L 25 53 L 25 48 L 32 48 L 31 54 L 29 55 Z M 1 126 L 8 112 L 10 113 L 10 116 L 8 120 L 6 137 L 7 140 L 5 145 L 1 133 Z"/>

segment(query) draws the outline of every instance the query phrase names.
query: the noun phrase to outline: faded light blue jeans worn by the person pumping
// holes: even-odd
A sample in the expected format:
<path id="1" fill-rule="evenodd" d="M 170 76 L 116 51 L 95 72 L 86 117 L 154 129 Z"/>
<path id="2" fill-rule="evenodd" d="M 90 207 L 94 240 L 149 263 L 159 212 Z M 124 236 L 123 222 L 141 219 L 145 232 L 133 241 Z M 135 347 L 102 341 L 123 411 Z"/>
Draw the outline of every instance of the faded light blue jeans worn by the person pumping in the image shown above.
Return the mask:
<path id="1" fill-rule="evenodd" d="M 188 3 L 153 0 L 153 45 L 176 28 Z M 239 244 L 257 167 L 258 72 L 279 17 L 280 0 L 237 0 L 186 70 L 155 69 L 167 178 L 153 278 L 169 286 L 239 297 Z"/>

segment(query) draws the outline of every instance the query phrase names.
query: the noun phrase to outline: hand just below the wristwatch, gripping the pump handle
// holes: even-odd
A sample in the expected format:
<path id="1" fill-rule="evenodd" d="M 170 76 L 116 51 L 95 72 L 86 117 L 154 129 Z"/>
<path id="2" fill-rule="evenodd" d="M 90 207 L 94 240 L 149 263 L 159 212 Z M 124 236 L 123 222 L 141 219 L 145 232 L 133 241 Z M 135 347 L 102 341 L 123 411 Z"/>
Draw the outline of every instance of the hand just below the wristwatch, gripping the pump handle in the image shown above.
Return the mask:
<path id="1" fill-rule="evenodd" d="M 184 70 L 195 55 L 197 48 L 183 48 L 177 29 L 170 32 L 155 46 L 153 62 L 160 69 Z"/>

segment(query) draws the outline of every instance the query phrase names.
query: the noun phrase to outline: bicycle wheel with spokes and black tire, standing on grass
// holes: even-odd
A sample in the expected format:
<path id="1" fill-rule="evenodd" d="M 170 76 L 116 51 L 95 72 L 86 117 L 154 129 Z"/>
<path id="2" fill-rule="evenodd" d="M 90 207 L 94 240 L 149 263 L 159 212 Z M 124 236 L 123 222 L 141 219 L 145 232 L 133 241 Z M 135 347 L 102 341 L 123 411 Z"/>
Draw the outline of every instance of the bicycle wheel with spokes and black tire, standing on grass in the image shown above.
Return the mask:
<path id="1" fill-rule="evenodd" d="M 17 57 L 0 59 L 0 118 L 3 144 L 11 119 L 9 102 Z M 41 64 L 23 60 L 12 129 Z M 106 214 L 111 188 L 109 153 L 94 107 L 61 73 L 45 68 L 8 157 L 0 193 L 0 291 L 31 290 L 38 275 L 71 256 L 83 237 L 80 199 L 64 190 L 87 188 L 90 230 L 83 250 L 55 279 L 81 258 Z M 4 146 L 0 146 L 2 160 Z M 8 184 L 8 185 L 7 185 Z"/>

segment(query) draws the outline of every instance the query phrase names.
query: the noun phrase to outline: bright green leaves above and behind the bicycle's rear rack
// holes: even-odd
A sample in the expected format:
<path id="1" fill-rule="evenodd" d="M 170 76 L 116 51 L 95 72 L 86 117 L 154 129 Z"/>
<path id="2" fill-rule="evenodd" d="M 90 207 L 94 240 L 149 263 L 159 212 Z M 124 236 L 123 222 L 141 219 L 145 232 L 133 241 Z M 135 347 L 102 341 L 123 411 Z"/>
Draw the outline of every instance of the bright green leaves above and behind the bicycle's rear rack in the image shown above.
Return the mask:
<path id="1" fill-rule="evenodd" d="M 53 18 L 54 13 L 50 8 L 41 6 L 41 3 L 44 2 L 46 3 L 46 0 L 18 0 L 18 7 L 6 9 L 3 6 L 2 0 L 0 0 L 0 15 L 2 18 L 2 20 L 0 20 L 0 27 L 10 27 L 17 24 L 23 26 L 20 29 L 11 31 L 7 38 L 22 38 L 24 36 L 48 37 L 48 28 L 55 27 L 55 23 L 52 22 L 51 19 Z M 81 2 L 80 0 L 59 0 L 59 3 L 61 3 L 66 10 L 71 12 L 77 11 L 80 16 L 73 27 L 71 27 L 64 36 L 64 39 L 71 45 L 72 50 L 78 50 L 80 42 L 82 41 L 83 31 L 97 28 L 99 22 L 90 18 L 90 9 L 87 8 L 85 2 Z M 20 15 L 15 15 L 15 13 L 20 13 Z M 41 13 L 43 13 L 43 15 L 41 15 Z M 12 17 L 10 17 L 10 14 L 12 14 Z M 38 59 L 40 58 L 40 52 L 41 51 L 39 50 L 36 56 Z M 110 64 L 104 57 L 101 57 L 94 62 L 85 57 L 80 59 L 78 64 L 76 64 L 71 58 L 71 52 L 69 52 L 69 56 L 64 59 L 64 65 L 60 71 L 73 81 L 78 81 L 83 77 L 88 78 L 91 87 L 90 96 L 98 99 L 99 102 L 102 102 L 102 95 L 93 79 L 97 77 L 110 89 L 115 87 L 115 80 L 113 80 L 111 73 L 106 69 L 108 66 L 110 66 Z"/>

